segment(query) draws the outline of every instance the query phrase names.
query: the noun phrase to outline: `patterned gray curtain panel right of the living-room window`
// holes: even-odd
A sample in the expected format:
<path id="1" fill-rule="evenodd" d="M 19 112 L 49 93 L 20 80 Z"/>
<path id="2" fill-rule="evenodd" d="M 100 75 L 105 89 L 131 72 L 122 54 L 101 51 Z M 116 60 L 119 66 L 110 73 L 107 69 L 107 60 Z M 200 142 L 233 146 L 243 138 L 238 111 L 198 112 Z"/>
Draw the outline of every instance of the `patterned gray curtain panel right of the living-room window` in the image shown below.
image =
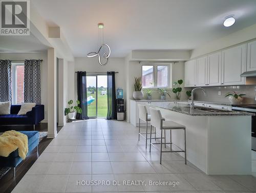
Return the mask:
<path id="1" fill-rule="evenodd" d="M 24 102 L 41 104 L 41 60 L 24 62 Z"/>

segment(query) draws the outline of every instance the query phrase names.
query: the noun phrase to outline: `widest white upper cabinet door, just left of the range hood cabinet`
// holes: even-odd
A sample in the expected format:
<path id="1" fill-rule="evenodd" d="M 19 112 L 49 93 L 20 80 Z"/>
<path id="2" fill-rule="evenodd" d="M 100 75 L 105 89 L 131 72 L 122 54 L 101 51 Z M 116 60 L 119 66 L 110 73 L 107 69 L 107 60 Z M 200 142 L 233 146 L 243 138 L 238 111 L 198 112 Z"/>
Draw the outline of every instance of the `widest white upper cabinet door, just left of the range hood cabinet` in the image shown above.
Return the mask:
<path id="1" fill-rule="evenodd" d="M 221 85 L 242 85 L 245 78 L 240 77 L 246 70 L 246 44 L 222 51 Z"/>

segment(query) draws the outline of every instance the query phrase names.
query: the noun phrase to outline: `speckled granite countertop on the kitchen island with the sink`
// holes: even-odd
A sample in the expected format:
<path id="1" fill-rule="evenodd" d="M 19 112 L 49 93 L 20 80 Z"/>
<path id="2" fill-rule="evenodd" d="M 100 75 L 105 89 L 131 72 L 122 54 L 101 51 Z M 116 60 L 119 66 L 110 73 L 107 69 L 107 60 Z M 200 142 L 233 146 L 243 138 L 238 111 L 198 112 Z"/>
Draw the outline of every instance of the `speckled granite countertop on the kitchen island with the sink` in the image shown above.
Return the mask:
<path id="1" fill-rule="evenodd" d="M 228 111 L 228 110 L 217 110 L 217 109 L 210 109 L 204 108 L 205 110 L 199 110 L 195 107 L 194 113 L 190 112 L 190 105 L 184 103 L 169 103 L 169 104 L 156 104 L 150 105 L 152 107 L 159 107 L 163 109 L 167 109 L 170 111 L 175 111 L 182 114 L 187 114 L 191 116 L 252 116 L 255 115 L 254 113 L 248 112 L 241 112 L 241 111 Z"/>

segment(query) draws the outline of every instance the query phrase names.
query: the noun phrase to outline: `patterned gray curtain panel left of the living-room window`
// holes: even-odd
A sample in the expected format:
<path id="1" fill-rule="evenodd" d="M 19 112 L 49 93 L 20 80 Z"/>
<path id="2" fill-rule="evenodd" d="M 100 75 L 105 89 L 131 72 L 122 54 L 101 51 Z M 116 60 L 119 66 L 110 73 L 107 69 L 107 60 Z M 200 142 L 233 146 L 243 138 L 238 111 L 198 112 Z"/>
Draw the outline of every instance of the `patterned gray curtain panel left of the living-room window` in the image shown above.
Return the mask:
<path id="1" fill-rule="evenodd" d="M 12 101 L 12 64 L 0 60 L 0 102 Z"/>

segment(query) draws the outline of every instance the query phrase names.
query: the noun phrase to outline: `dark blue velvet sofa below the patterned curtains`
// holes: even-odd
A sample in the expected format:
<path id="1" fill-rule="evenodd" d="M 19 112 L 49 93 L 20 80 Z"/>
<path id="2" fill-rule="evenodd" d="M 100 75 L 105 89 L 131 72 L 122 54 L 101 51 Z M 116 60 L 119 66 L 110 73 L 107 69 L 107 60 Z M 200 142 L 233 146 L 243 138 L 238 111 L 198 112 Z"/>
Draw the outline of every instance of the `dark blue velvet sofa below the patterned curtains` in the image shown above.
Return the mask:
<path id="1" fill-rule="evenodd" d="M 45 106 L 36 105 L 26 115 L 17 115 L 21 105 L 11 105 L 11 114 L 0 115 L 0 126 L 3 125 L 35 125 L 45 119 Z"/>

